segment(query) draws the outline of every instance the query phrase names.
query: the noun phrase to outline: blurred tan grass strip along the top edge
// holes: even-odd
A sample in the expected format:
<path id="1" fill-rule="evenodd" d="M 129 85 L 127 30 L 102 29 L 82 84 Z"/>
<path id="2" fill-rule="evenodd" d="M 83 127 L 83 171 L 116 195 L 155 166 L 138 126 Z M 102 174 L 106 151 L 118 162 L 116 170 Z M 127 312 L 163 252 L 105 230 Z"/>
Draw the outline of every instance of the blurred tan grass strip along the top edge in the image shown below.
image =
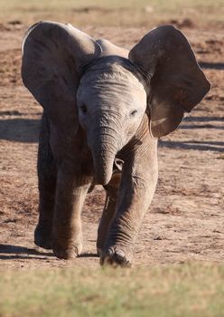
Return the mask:
<path id="1" fill-rule="evenodd" d="M 2 24 L 33 24 L 38 20 L 70 21 L 77 26 L 187 27 L 224 26 L 223 0 L 1 0 Z"/>

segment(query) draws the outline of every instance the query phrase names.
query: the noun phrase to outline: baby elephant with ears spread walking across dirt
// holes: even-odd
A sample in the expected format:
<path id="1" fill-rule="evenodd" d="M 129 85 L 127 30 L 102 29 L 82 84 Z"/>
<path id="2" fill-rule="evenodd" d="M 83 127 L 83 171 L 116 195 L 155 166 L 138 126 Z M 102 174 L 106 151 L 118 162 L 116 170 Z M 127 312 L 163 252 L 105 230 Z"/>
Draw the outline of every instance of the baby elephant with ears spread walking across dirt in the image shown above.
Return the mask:
<path id="1" fill-rule="evenodd" d="M 63 259 L 80 255 L 81 210 L 99 184 L 107 191 L 100 264 L 129 266 L 156 187 L 157 139 L 210 90 L 190 44 L 165 25 L 128 52 L 40 22 L 24 36 L 22 76 L 43 108 L 35 244 Z"/>

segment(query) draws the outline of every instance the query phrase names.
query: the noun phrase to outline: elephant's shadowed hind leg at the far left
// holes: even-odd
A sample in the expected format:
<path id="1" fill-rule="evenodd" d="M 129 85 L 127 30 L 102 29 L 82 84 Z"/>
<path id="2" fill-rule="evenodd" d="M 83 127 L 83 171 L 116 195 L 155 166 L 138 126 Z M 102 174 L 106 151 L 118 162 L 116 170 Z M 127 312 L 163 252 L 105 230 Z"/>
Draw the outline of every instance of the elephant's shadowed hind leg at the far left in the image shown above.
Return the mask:
<path id="1" fill-rule="evenodd" d="M 49 122 L 45 114 L 43 114 L 37 162 L 39 221 L 34 232 L 34 243 L 45 249 L 51 249 L 51 227 L 57 174 L 51 154 L 49 137 Z"/>

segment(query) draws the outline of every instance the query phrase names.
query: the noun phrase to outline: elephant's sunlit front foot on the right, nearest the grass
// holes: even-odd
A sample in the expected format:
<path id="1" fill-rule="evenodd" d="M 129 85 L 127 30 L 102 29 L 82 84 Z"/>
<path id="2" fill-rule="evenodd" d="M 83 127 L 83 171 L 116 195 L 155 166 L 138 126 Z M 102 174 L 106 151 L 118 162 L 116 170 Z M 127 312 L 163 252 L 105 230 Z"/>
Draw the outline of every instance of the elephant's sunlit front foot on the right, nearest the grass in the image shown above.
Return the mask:
<path id="1" fill-rule="evenodd" d="M 130 267 L 132 265 L 132 253 L 126 248 L 119 246 L 110 246 L 100 255 L 101 265 L 112 265 L 121 267 Z"/>

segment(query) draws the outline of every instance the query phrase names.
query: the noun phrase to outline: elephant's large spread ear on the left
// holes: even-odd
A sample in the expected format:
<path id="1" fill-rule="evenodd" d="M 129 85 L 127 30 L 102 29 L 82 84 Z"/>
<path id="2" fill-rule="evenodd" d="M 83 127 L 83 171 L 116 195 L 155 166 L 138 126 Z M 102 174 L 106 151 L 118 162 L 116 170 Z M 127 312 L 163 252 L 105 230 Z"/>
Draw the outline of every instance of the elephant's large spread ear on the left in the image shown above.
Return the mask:
<path id="1" fill-rule="evenodd" d="M 23 40 L 23 83 L 61 130 L 78 125 L 76 92 L 84 68 L 101 48 L 70 24 L 34 24 Z"/>

